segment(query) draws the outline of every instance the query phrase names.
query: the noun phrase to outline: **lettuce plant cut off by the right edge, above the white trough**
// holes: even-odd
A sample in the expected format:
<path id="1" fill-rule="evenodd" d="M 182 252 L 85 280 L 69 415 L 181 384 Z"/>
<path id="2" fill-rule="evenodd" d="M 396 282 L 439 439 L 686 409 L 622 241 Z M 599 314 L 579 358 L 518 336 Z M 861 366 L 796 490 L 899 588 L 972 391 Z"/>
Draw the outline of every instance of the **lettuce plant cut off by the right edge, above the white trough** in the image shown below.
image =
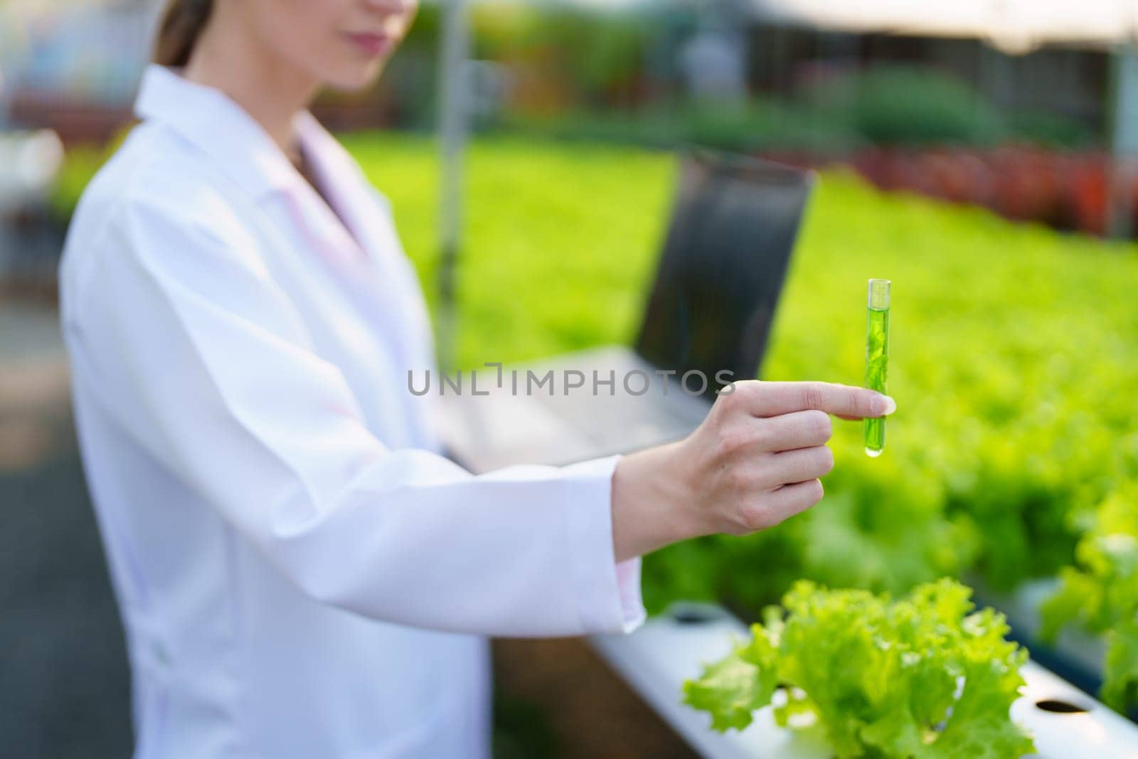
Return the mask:
<path id="1" fill-rule="evenodd" d="M 1075 558 L 1040 608 L 1040 635 L 1053 641 L 1067 625 L 1106 634 L 1099 695 L 1124 711 L 1138 704 L 1138 482 L 1103 502 Z"/>

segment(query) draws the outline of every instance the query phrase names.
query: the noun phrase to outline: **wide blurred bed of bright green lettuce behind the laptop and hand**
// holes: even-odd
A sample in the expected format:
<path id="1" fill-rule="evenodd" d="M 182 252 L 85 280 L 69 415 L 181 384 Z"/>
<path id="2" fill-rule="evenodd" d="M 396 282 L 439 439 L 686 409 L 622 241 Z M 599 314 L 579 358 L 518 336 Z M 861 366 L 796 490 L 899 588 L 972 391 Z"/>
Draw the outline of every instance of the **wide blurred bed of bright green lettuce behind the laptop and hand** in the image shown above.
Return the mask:
<path id="1" fill-rule="evenodd" d="M 344 142 L 391 199 L 434 305 L 435 142 L 374 133 Z M 671 156 L 483 138 L 465 168 L 460 364 L 629 343 L 663 236 Z M 865 282 L 891 279 L 898 412 L 885 451 L 868 459 L 861 426 L 835 420 L 823 502 L 748 538 L 648 556 L 650 609 L 679 597 L 758 609 L 798 578 L 902 593 L 973 567 L 1011 588 L 1071 564 L 1096 505 L 1138 481 L 1135 253 L 826 173 L 761 376 L 859 385 Z M 1098 628 L 1113 625 L 1107 616 Z"/>

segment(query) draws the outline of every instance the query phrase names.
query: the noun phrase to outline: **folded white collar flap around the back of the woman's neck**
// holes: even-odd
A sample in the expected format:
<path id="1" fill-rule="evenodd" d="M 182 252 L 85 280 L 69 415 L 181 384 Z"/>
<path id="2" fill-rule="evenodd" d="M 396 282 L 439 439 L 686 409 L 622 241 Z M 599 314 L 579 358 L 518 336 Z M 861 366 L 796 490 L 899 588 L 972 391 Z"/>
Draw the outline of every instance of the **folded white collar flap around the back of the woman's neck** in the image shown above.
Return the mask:
<path id="1" fill-rule="evenodd" d="M 292 191 L 305 182 L 248 112 L 222 91 L 190 82 L 175 69 L 147 66 L 134 113 L 176 130 L 255 198 Z M 297 118 L 307 119 L 311 114 L 302 112 Z"/>

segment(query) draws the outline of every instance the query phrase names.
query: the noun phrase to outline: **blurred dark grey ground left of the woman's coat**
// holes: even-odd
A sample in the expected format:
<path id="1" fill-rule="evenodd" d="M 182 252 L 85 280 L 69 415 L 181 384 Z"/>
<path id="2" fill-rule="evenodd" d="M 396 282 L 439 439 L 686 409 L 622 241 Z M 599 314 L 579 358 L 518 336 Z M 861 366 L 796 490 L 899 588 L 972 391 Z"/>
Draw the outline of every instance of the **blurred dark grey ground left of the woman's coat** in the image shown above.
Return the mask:
<path id="1" fill-rule="evenodd" d="M 5 757 L 129 757 L 118 611 L 86 495 L 55 308 L 0 300 Z"/>

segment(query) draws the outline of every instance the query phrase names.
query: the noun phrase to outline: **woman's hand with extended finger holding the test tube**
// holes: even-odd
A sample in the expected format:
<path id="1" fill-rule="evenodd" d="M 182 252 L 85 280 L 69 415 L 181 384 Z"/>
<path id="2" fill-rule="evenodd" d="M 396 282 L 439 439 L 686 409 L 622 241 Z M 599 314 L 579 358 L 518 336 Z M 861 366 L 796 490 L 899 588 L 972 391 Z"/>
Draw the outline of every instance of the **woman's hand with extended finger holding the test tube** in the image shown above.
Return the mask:
<path id="1" fill-rule="evenodd" d="M 822 500 L 830 414 L 883 416 L 893 401 L 830 382 L 733 382 L 676 443 L 622 456 L 612 476 L 617 561 L 711 533 L 773 527 Z"/>

